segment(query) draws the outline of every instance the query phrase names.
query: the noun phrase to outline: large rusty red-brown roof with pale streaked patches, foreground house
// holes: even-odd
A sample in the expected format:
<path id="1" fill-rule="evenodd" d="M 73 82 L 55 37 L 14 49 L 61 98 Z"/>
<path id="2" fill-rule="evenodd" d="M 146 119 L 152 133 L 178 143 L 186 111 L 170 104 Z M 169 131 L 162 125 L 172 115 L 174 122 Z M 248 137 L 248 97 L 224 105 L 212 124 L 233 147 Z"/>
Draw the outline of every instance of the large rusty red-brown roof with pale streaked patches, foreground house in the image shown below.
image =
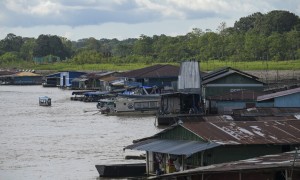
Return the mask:
<path id="1" fill-rule="evenodd" d="M 220 144 L 299 144 L 300 121 L 188 122 L 185 129 Z"/>

